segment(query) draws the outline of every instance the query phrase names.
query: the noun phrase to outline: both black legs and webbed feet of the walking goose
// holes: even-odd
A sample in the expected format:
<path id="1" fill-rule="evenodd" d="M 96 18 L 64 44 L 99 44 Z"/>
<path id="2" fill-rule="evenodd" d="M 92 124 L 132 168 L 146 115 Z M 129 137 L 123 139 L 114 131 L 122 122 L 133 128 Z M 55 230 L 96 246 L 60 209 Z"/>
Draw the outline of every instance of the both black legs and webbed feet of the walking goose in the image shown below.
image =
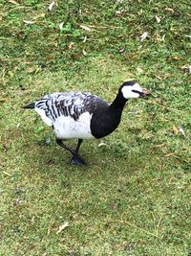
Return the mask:
<path id="1" fill-rule="evenodd" d="M 71 159 L 71 163 L 72 163 L 72 164 L 75 164 L 75 165 L 85 165 L 85 164 L 86 164 L 86 162 L 84 161 L 84 159 L 78 154 L 79 147 L 80 147 L 82 141 L 83 141 L 82 139 L 78 139 L 77 147 L 76 147 L 76 149 L 75 149 L 75 151 L 74 151 L 73 149 L 71 149 L 71 148 L 69 148 L 68 146 L 66 146 L 66 145 L 62 142 L 62 140 L 56 139 L 56 143 L 57 143 L 60 147 L 64 148 L 64 149 L 67 150 L 67 151 L 70 151 L 70 152 L 73 154 L 73 158 Z"/>

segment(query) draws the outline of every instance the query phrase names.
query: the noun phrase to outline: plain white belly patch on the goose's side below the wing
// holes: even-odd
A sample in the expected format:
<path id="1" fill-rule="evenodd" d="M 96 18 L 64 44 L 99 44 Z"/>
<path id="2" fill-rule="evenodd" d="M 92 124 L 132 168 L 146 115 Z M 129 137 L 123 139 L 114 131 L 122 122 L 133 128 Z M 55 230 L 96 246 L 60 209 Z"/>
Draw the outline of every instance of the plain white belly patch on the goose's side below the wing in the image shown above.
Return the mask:
<path id="1" fill-rule="evenodd" d="M 91 118 L 89 112 L 81 114 L 76 121 L 70 116 L 59 116 L 53 124 L 55 136 L 58 139 L 94 139 L 90 129 Z"/>

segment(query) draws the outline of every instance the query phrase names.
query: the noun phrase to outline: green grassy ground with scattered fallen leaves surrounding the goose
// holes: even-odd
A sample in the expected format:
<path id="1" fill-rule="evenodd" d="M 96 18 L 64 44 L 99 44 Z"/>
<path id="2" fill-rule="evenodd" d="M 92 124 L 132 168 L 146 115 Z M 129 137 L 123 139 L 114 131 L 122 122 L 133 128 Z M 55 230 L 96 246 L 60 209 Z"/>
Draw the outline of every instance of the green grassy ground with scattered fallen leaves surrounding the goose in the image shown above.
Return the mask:
<path id="1" fill-rule="evenodd" d="M 49 4 L 0 3 L 0 254 L 190 255 L 190 6 Z M 113 134 L 84 142 L 85 168 L 21 108 L 65 90 L 111 102 L 132 78 L 153 96 L 129 102 Z"/>

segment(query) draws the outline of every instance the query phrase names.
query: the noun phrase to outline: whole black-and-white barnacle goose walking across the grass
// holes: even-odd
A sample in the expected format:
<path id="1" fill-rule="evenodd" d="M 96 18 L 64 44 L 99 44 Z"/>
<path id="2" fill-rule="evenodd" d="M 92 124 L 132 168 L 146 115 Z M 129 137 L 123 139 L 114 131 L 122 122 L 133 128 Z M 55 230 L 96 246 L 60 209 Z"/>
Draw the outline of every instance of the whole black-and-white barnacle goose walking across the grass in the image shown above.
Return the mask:
<path id="1" fill-rule="evenodd" d="M 123 108 L 129 99 L 147 99 L 150 91 L 137 81 L 124 81 L 112 104 L 89 92 L 55 92 L 23 106 L 34 109 L 42 121 L 53 128 L 56 143 L 72 154 L 71 164 L 86 165 L 79 154 L 84 139 L 99 139 L 112 133 L 120 123 Z M 77 139 L 75 149 L 63 143 Z"/>

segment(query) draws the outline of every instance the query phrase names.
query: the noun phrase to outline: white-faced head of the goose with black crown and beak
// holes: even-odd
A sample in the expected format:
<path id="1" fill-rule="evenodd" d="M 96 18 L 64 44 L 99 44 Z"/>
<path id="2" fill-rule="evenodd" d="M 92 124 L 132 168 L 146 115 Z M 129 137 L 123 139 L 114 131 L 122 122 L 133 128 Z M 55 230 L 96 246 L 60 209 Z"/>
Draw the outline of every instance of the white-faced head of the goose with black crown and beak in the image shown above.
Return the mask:
<path id="1" fill-rule="evenodd" d="M 146 99 L 150 95 L 150 91 L 140 87 L 137 81 L 125 81 L 120 86 L 119 91 L 121 92 L 124 99 Z"/>

